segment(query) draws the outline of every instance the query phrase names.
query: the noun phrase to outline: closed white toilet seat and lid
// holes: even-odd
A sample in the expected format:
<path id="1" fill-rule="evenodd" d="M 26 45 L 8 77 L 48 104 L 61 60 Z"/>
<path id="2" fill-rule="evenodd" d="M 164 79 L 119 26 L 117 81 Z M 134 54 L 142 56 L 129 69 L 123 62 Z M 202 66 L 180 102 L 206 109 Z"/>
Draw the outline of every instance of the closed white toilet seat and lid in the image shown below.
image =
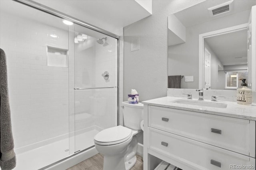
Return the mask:
<path id="1" fill-rule="evenodd" d="M 127 141 L 130 137 L 132 137 L 132 129 L 119 125 L 100 131 L 94 137 L 94 142 L 98 145 L 115 145 Z"/>

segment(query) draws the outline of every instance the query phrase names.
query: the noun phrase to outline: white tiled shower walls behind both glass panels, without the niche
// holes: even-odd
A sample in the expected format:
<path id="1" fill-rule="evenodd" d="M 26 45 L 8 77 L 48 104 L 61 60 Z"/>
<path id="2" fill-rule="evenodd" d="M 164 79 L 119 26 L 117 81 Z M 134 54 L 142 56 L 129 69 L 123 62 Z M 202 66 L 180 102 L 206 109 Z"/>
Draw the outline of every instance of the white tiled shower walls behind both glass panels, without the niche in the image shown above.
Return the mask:
<path id="1" fill-rule="evenodd" d="M 60 29 L 5 12 L 1 12 L 0 19 L 0 47 L 7 55 L 16 149 L 39 145 L 69 132 L 74 135 L 75 130 L 95 125 L 102 129 L 117 125 L 116 88 L 74 90 L 74 87 L 116 86 L 116 39 L 108 37 L 108 44 L 100 45 L 96 43 L 100 37 L 91 37 L 86 40 L 91 43 L 89 48 L 87 44 L 83 49 L 86 42 L 74 48 L 74 26 L 68 30 L 62 25 Z M 68 49 L 68 67 L 47 66 L 47 46 Z M 104 71 L 110 73 L 109 80 L 102 77 Z M 73 153 L 74 137 L 69 144 Z"/>

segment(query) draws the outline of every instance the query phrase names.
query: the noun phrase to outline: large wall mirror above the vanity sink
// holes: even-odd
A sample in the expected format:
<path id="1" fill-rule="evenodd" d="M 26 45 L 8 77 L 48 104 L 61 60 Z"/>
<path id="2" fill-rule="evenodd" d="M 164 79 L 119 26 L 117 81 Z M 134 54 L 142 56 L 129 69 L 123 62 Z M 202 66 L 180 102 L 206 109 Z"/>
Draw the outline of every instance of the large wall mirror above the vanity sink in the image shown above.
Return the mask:
<path id="1" fill-rule="evenodd" d="M 212 16 L 223 5 L 229 11 Z M 247 56 L 254 5 L 256 1 L 207 0 L 168 16 L 168 88 L 236 90 L 238 79 L 246 78 L 255 90 L 255 74 L 248 75 L 248 64 L 251 70 L 255 64 Z"/>

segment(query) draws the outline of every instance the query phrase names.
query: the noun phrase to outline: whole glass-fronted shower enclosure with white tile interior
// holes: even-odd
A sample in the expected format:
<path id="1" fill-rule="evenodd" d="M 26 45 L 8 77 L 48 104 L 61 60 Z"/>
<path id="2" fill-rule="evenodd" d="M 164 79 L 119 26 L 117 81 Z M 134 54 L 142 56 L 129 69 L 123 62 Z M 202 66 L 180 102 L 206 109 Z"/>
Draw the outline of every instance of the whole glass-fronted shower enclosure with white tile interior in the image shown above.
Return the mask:
<path id="1" fill-rule="evenodd" d="M 15 170 L 85 152 L 117 125 L 118 39 L 10 0 L 0 1 Z"/>

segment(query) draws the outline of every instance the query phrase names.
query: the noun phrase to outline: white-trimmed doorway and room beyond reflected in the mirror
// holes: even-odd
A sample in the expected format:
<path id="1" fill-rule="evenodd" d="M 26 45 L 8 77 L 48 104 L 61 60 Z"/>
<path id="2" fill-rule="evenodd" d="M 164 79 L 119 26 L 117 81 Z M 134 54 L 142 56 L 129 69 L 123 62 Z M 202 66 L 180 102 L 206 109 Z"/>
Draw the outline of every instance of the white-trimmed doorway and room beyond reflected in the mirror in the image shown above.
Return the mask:
<path id="1" fill-rule="evenodd" d="M 240 78 L 248 80 L 247 26 L 242 24 L 199 35 L 199 61 L 204 61 L 199 73 L 203 77 L 202 88 L 235 90 L 240 87 Z"/>

